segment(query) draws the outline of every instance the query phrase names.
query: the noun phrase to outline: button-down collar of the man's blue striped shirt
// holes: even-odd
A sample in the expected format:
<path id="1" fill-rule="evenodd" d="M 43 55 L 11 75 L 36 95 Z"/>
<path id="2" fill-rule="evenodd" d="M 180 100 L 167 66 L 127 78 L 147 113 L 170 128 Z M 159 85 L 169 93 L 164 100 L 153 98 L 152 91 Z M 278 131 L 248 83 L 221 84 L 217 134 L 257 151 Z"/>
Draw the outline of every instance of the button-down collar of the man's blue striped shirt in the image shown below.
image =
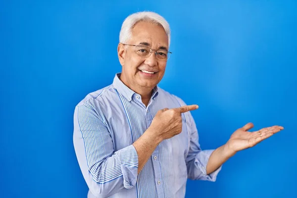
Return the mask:
<path id="1" fill-rule="evenodd" d="M 113 79 L 113 86 L 114 88 L 120 93 L 123 97 L 128 99 L 128 101 L 132 100 L 134 94 L 136 94 L 133 90 L 127 87 L 121 80 L 120 80 L 121 73 L 116 73 Z M 152 90 L 151 98 L 155 99 L 158 95 L 158 87 L 155 86 Z"/>

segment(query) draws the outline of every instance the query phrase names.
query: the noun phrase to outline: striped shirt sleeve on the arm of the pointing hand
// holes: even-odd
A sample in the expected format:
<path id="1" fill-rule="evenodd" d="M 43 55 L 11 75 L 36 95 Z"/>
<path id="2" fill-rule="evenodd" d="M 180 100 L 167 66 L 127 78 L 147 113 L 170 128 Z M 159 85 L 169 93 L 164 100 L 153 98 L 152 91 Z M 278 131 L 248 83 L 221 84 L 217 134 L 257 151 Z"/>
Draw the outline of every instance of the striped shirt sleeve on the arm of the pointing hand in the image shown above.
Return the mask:
<path id="1" fill-rule="evenodd" d="M 97 198 L 133 188 L 138 173 L 138 155 L 134 146 L 114 151 L 106 126 L 90 106 L 75 107 L 74 148 L 84 179 Z"/>

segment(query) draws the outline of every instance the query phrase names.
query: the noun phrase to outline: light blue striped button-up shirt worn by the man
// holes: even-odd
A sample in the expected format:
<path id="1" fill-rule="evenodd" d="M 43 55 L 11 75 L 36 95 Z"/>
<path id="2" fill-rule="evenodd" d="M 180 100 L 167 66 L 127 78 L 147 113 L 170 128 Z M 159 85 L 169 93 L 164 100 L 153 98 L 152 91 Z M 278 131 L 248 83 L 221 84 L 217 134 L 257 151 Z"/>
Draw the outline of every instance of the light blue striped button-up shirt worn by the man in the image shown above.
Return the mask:
<path id="1" fill-rule="evenodd" d="M 145 106 L 119 76 L 75 107 L 73 142 L 90 189 L 88 198 L 184 198 L 187 178 L 215 181 L 221 167 L 206 175 L 213 150 L 201 150 L 190 112 L 182 114 L 182 132 L 163 140 L 137 174 L 138 154 L 132 144 L 158 110 L 186 104 L 156 86 Z"/>

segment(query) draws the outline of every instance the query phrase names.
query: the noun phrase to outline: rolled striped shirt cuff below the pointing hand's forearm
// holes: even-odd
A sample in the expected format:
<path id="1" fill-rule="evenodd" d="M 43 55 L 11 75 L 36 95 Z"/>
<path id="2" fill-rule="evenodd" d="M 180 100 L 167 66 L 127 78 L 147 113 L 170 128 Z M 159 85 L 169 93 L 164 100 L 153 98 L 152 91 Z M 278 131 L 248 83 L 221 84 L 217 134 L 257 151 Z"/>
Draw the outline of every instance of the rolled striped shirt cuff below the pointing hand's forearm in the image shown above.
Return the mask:
<path id="1" fill-rule="evenodd" d="M 121 163 L 124 187 L 131 189 L 136 185 L 138 174 L 138 154 L 133 145 L 115 152 Z"/>

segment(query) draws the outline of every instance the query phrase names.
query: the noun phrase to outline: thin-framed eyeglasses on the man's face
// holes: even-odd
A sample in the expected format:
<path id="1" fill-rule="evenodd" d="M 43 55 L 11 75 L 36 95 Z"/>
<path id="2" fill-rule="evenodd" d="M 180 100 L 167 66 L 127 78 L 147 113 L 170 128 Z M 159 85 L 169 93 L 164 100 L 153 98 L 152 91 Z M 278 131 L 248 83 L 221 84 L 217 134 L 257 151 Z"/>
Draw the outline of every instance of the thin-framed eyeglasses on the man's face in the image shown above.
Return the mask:
<path id="1" fill-rule="evenodd" d="M 129 45 L 129 44 L 123 44 L 123 45 L 124 46 L 134 46 L 135 52 L 139 56 L 144 57 L 144 58 L 147 58 L 148 56 L 150 56 L 151 51 L 155 51 L 154 54 L 156 54 L 156 56 L 159 60 L 168 60 L 170 57 L 170 54 L 172 53 L 170 51 L 166 51 L 163 49 L 158 49 L 158 50 L 151 49 L 146 46 L 136 46 L 136 45 Z"/>

